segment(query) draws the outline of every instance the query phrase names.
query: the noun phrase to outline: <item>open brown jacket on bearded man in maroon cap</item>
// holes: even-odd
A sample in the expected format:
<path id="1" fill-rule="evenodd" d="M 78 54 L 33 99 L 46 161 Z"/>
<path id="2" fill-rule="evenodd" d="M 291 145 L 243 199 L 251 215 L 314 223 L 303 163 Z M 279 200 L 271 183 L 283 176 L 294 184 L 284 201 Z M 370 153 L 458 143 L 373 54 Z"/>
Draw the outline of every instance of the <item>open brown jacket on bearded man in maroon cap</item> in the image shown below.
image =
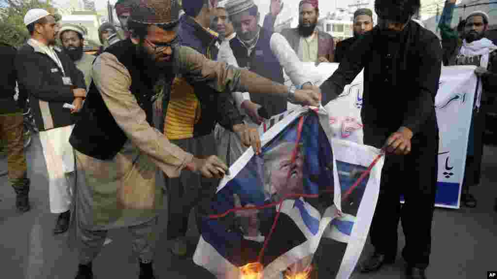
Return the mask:
<path id="1" fill-rule="evenodd" d="M 334 60 L 334 41 L 333 37 L 326 32 L 317 30 L 318 33 L 318 58 L 325 57 L 330 62 L 335 62 Z M 295 53 L 299 53 L 300 47 L 300 34 L 297 28 L 288 28 L 281 31 L 281 35 L 290 43 L 292 49 Z"/>

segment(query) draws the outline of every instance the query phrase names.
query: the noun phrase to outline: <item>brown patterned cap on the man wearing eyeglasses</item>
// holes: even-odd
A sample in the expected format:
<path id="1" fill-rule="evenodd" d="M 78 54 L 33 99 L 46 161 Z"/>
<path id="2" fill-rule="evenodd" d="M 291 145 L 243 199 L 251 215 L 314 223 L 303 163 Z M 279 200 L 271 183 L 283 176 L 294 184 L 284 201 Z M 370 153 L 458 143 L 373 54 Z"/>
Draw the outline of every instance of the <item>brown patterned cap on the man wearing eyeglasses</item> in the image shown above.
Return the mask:
<path id="1" fill-rule="evenodd" d="M 177 14 L 172 13 L 174 0 L 136 0 L 131 7 L 129 20 L 142 24 L 173 27 L 177 24 Z"/>

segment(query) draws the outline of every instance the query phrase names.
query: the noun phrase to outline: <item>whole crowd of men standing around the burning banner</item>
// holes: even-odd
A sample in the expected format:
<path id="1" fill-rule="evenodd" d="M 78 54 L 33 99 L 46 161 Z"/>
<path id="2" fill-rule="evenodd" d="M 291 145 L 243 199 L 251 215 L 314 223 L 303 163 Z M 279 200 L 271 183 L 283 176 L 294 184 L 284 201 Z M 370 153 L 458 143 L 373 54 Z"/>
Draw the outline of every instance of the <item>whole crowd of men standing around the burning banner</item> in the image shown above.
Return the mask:
<path id="1" fill-rule="evenodd" d="M 364 143 L 383 148 L 387 156 L 370 231 L 375 252 L 361 272 L 395 262 L 402 220 L 406 275 L 426 278 L 440 66 L 475 65 L 483 83 L 464 188 L 464 201 L 476 206 L 469 186 L 479 183 L 482 115 L 497 86 L 497 46 L 484 36 L 489 16 L 473 12 L 453 30 L 455 0 L 447 0 L 440 42 L 412 20 L 419 0 L 376 0 L 377 25 L 371 10 L 358 9 L 354 36 L 335 47 L 332 36 L 317 28 L 318 0 L 302 0 L 299 25 L 281 34 L 300 61 L 340 65 L 320 88 L 306 82 L 294 90 L 282 85 L 283 69 L 270 48 L 280 0 L 270 1 L 262 26 L 253 0 L 184 0 L 181 14 L 171 13 L 171 2 L 118 0 L 122 32 L 102 24 L 96 57 L 83 53 L 85 30 L 59 26 L 43 9 L 29 10 L 24 17 L 31 35 L 26 44 L 18 50 L 0 46 L 1 58 L 11 62 L 5 65 L 12 66 L 2 68 L 0 77 L 0 129 L 7 139 L 16 208 L 30 210 L 22 148 L 22 108 L 29 98 L 48 171 L 50 211 L 58 214 L 54 233 L 70 231 L 70 243 L 79 253 L 76 278 L 93 278 L 92 261 L 107 231 L 122 227 L 132 234 L 139 278 L 155 278 L 153 228 L 163 204 L 157 169 L 167 187 L 170 251 L 189 254 L 185 235 L 191 210 L 200 230 L 200 217 L 210 212 L 228 166 L 250 146 L 260 151 L 256 127 L 261 121 L 284 112 L 289 101 L 327 104 L 363 69 Z M 396 96 L 400 105 L 387 106 L 391 96 L 379 92 L 403 92 Z M 402 208 L 401 194 L 406 200 Z"/>

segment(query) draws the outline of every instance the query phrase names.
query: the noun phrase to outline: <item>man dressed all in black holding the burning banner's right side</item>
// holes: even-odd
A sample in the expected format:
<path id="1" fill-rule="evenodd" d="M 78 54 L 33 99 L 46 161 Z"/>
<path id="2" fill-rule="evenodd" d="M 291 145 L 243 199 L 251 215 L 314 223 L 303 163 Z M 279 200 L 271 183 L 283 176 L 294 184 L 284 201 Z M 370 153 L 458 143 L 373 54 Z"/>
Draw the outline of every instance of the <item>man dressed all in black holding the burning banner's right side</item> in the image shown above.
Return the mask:
<path id="1" fill-rule="evenodd" d="M 364 143 L 387 151 L 370 232 L 375 253 L 361 271 L 377 271 L 395 261 L 401 219 L 407 278 L 422 279 L 429 262 L 436 191 L 434 99 L 442 50 L 431 31 L 411 20 L 419 5 L 419 0 L 376 0 L 378 26 L 351 47 L 351 55 L 321 90 L 326 104 L 364 68 Z M 406 200 L 402 208 L 401 194 Z"/>

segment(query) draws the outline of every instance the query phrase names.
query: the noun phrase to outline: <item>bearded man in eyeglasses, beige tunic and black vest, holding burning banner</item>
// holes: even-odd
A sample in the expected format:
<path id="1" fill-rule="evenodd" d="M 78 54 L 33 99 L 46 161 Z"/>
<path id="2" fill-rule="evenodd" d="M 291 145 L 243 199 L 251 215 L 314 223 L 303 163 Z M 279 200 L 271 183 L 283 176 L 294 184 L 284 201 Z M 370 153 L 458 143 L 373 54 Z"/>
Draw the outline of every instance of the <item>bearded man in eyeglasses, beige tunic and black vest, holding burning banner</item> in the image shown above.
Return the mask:
<path id="1" fill-rule="evenodd" d="M 190 47 L 178 46 L 178 20 L 171 14 L 171 1 L 134 3 L 128 22 L 130 38 L 107 48 L 93 64 L 93 81 L 81 120 L 70 138 L 77 177 L 70 227 L 79 250 L 77 279 L 93 278 L 92 261 L 107 231 L 122 227 L 133 235 L 139 278 L 154 279 L 154 227 L 163 199 L 162 189 L 155 183 L 157 167 L 168 177 L 191 171 L 206 178 L 221 178 L 228 170 L 217 156 L 194 156 L 153 128 L 152 92 L 158 80 L 165 80 L 166 89 L 176 76 L 195 87 L 214 89 L 195 91 L 198 96 L 248 91 L 319 105 L 316 87 L 290 90 L 248 70 L 208 60 Z M 188 92 L 178 93 L 186 102 Z M 244 138 L 244 142 L 260 144 L 255 138 Z M 255 147 L 258 152 L 260 146 Z"/>

